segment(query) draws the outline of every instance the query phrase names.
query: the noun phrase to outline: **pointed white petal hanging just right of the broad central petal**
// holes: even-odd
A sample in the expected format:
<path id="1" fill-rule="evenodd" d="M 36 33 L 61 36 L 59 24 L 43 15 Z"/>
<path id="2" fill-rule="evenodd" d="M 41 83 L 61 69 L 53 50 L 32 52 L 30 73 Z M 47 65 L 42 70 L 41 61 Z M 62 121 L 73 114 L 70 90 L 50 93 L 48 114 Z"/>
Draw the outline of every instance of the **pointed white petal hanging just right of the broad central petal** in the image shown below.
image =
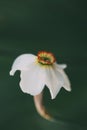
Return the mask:
<path id="1" fill-rule="evenodd" d="M 63 78 L 60 72 L 54 68 L 46 69 L 46 85 L 50 90 L 51 98 L 54 99 L 63 85 Z"/>

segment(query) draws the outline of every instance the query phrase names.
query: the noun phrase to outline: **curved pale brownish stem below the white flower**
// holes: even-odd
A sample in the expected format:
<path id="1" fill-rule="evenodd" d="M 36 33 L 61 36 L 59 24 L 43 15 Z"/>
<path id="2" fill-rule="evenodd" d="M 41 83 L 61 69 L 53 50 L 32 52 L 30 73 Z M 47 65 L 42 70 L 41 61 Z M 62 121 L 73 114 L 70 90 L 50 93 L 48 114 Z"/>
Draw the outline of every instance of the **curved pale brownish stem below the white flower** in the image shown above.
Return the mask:
<path id="1" fill-rule="evenodd" d="M 47 112 L 44 104 L 43 104 L 43 93 L 34 96 L 34 103 L 37 112 L 45 119 L 49 121 L 53 121 L 53 117 Z"/>

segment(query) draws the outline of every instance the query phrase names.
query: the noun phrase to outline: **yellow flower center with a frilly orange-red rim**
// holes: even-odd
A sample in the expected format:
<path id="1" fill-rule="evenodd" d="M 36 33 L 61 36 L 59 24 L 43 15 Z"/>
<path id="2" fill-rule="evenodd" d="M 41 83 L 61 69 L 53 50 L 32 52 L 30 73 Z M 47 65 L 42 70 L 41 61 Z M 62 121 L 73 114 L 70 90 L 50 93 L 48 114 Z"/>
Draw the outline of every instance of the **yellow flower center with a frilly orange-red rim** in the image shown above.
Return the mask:
<path id="1" fill-rule="evenodd" d="M 52 53 L 40 51 L 38 52 L 38 62 L 42 65 L 52 65 L 56 60 Z"/>

